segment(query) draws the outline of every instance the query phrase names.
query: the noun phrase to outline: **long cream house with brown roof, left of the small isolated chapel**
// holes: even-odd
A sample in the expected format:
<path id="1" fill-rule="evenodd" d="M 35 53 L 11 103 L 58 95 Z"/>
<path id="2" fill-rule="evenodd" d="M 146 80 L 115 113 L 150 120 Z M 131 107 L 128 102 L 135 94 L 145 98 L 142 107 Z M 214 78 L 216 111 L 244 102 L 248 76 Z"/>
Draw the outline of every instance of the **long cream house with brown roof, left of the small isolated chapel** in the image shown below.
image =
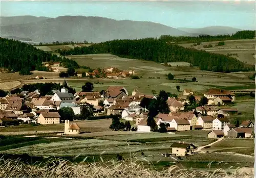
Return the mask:
<path id="1" fill-rule="evenodd" d="M 41 112 L 37 118 L 37 123 L 40 124 L 56 124 L 60 122 L 60 115 L 58 112 Z"/>

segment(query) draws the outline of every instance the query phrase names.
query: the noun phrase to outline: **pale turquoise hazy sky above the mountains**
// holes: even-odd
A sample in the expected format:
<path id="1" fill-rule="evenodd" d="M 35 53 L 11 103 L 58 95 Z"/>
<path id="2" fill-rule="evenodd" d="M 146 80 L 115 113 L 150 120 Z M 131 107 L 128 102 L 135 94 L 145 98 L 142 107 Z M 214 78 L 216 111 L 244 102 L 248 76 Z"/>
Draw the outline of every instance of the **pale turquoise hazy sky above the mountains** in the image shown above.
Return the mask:
<path id="1" fill-rule="evenodd" d="M 255 29 L 255 1 L 5 1 L 1 16 L 100 16 L 153 21 L 170 27 L 230 26 Z"/>

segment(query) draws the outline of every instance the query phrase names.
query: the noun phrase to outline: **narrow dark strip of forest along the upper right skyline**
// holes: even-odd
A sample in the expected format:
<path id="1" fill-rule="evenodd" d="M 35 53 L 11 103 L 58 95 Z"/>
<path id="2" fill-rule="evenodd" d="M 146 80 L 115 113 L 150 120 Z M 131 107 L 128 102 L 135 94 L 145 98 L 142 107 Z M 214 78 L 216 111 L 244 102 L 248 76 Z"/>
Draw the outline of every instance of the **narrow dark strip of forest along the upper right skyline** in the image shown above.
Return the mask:
<path id="1" fill-rule="evenodd" d="M 189 36 L 179 36 L 174 37 L 170 35 L 162 35 L 160 40 L 172 41 L 172 42 L 182 42 L 182 43 L 196 43 L 196 42 L 205 42 L 205 41 L 223 41 L 223 40 L 238 40 L 238 39 L 253 39 L 255 38 L 255 30 L 244 30 L 236 32 L 232 35 L 199 35 L 197 37 Z"/>

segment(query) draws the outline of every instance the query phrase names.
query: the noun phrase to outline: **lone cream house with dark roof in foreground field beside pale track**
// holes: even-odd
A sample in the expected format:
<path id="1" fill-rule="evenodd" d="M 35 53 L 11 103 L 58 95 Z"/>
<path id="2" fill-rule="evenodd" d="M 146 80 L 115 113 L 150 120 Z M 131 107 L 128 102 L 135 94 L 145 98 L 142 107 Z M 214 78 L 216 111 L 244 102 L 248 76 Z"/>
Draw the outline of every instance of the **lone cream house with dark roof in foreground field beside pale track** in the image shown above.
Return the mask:
<path id="1" fill-rule="evenodd" d="M 194 150 L 197 148 L 191 143 L 184 142 L 174 142 L 170 147 L 172 147 L 172 154 L 176 156 L 186 156 L 187 154 L 193 154 Z"/>

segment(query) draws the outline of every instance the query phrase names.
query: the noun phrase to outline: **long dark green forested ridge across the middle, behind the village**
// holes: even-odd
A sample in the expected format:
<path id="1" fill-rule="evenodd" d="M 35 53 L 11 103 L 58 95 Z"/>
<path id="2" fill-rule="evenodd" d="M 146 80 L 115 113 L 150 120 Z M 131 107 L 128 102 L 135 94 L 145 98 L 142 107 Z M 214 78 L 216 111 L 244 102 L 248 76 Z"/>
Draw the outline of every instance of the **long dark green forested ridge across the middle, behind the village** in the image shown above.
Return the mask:
<path id="1" fill-rule="evenodd" d="M 204 50 L 188 49 L 164 40 L 146 38 L 139 40 L 113 40 L 93 44 L 89 47 L 75 47 L 58 51 L 61 55 L 83 55 L 110 53 L 125 58 L 162 62 L 183 61 L 199 66 L 201 70 L 236 72 L 253 70 L 254 66 L 235 58 L 213 54 Z"/>

